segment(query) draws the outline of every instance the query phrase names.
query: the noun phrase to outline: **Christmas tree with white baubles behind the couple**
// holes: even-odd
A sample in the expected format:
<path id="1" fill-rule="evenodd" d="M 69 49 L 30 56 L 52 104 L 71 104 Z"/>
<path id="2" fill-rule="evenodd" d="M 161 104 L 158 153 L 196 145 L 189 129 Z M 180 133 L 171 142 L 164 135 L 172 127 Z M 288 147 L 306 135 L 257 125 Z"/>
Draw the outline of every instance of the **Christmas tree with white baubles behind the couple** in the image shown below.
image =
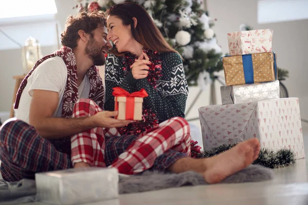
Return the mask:
<path id="1" fill-rule="evenodd" d="M 102 10 L 114 4 L 133 2 L 143 6 L 168 43 L 184 58 L 188 85 L 197 85 L 200 73 L 222 70 L 221 47 L 211 29 L 214 20 L 202 9 L 201 0 L 77 0 L 78 11 Z"/>

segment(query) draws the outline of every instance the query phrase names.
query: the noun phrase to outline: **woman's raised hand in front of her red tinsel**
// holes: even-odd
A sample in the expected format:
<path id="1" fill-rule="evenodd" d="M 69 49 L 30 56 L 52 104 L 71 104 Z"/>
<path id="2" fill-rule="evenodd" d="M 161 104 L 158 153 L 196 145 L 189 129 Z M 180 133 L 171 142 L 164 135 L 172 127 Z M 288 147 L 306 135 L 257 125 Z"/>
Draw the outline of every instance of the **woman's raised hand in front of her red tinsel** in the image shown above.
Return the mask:
<path id="1" fill-rule="evenodd" d="M 140 57 L 130 66 L 133 78 L 142 79 L 147 77 L 149 73 L 148 64 L 151 64 L 149 57 L 145 52 L 142 52 Z"/>

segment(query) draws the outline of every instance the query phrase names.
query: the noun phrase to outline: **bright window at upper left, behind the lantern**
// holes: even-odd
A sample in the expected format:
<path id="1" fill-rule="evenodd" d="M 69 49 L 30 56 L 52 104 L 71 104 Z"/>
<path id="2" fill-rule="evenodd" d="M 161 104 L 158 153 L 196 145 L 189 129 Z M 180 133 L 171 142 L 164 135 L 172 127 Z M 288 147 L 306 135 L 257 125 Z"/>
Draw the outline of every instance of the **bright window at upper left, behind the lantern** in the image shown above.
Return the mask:
<path id="1" fill-rule="evenodd" d="M 10 40 L 0 32 L 0 50 L 20 49 L 29 36 L 38 40 L 41 46 L 57 45 L 59 23 L 55 18 L 57 13 L 54 0 L 14 0 L 1 1 L 0 29 Z M 58 23 L 58 24 L 57 24 Z"/>

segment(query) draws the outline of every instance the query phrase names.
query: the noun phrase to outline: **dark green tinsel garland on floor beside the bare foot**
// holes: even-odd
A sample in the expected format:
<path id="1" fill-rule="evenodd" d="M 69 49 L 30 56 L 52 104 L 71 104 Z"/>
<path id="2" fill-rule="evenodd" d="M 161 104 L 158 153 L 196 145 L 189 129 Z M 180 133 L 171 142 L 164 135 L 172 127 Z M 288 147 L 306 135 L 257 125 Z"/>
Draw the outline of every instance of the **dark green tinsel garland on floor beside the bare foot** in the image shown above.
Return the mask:
<path id="1" fill-rule="evenodd" d="M 196 158 L 212 157 L 233 148 L 235 145 L 221 145 L 210 150 L 201 150 L 199 153 L 195 153 L 195 156 Z M 263 148 L 260 150 L 258 159 L 253 164 L 262 165 L 271 169 L 292 166 L 295 164 L 295 153 L 289 149 L 281 149 L 274 152 Z"/>

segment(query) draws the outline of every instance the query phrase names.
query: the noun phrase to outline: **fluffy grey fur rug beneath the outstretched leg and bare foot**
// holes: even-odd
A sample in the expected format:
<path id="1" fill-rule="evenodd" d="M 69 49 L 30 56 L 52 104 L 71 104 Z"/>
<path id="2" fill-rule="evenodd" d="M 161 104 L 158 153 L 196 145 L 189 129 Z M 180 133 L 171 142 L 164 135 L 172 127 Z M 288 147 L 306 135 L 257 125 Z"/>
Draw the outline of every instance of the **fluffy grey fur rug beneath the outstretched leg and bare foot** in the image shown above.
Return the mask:
<path id="1" fill-rule="evenodd" d="M 251 165 L 242 171 L 227 177 L 221 183 L 243 183 L 272 179 L 274 171 L 260 165 Z M 184 172 L 180 174 L 160 172 L 144 172 L 133 177 L 120 177 L 119 193 L 128 194 L 168 189 L 183 186 L 206 185 L 201 174 Z"/>

